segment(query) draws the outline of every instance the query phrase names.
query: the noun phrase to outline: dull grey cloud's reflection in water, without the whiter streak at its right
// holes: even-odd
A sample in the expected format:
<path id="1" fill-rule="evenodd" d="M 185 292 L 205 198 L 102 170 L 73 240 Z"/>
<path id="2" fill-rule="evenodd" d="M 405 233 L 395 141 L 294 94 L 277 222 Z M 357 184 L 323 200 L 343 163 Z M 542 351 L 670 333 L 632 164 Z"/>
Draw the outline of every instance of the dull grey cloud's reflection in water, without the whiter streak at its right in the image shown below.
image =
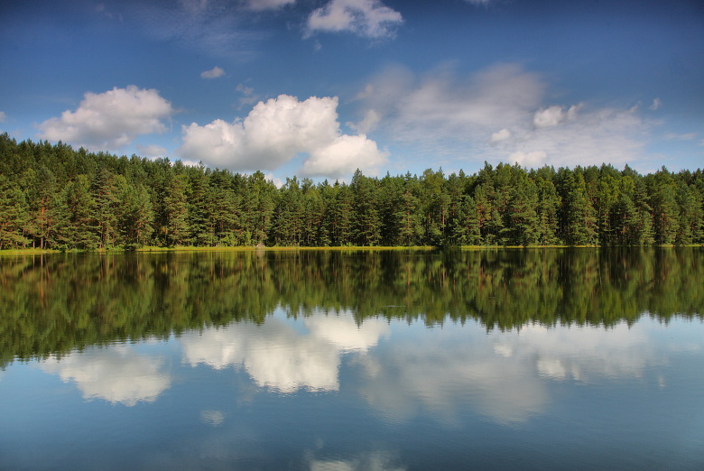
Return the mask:
<path id="1" fill-rule="evenodd" d="M 410 420 L 423 409 L 448 423 L 468 407 L 500 423 L 542 413 L 550 395 L 535 374 L 533 359 L 497 355 L 490 348 L 495 340 L 496 335 L 487 336 L 478 326 L 439 332 L 420 349 L 412 339 L 394 339 L 393 350 L 360 362 L 359 393 L 394 421 Z"/>

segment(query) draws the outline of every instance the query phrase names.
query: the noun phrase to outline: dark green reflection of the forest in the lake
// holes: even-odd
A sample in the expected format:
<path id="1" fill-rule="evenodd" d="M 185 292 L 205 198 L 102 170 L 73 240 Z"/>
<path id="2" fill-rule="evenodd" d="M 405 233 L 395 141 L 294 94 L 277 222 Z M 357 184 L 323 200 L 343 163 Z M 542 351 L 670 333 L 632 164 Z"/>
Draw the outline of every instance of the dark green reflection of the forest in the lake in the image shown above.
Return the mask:
<path id="1" fill-rule="evenodd" d="M 47 254 L 0 258 L 0 368 L 233 322 L 339 312 L 610 328 L 704 312 L 699 247 Z"/>

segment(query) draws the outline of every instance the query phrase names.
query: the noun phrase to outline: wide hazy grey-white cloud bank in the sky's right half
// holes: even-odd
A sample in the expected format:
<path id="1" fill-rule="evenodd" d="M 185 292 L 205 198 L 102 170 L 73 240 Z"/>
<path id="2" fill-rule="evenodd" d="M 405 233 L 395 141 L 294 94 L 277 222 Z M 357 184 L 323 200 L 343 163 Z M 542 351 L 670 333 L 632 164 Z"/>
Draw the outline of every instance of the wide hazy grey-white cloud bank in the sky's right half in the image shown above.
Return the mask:
<path id="1" fill-rule="evenodd" d="M 357 95 L 363 115 L 357 126 L 364 129 L 374 116 L 376 135 L 435 157 L 478 162 L 622 165 L 642 156 L 653 123 L 637 106 L 551 104 L 547 92 L 546 81 L 519 64 L 465 77 L 451 66 L 425 77 L 394 67 Z"/>

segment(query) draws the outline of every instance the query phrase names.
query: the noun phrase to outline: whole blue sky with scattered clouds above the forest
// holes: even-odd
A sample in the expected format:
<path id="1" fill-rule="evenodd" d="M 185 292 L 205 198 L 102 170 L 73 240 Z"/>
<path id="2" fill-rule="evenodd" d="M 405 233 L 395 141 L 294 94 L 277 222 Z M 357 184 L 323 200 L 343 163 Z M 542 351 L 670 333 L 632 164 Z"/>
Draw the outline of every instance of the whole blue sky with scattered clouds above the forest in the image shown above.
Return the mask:
<path id="1" fill-rule="evenodd" d="M 5 0 L 0 132 L 293 175 L 704 167 L 699 0 Z"/>

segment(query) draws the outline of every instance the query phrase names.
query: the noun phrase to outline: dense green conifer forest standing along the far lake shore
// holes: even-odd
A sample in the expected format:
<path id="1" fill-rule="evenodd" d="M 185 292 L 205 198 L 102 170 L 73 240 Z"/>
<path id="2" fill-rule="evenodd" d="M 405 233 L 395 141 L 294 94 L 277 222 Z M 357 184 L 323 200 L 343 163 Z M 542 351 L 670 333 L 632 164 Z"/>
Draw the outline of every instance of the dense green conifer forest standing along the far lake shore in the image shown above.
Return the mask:
<path id="1" fill-rule="evenodd" d="M 0 249 L 142 245 L 689 245 L 704 172 L 488 163 L 347 183 L 17 143 L 0 135 Z"/>

